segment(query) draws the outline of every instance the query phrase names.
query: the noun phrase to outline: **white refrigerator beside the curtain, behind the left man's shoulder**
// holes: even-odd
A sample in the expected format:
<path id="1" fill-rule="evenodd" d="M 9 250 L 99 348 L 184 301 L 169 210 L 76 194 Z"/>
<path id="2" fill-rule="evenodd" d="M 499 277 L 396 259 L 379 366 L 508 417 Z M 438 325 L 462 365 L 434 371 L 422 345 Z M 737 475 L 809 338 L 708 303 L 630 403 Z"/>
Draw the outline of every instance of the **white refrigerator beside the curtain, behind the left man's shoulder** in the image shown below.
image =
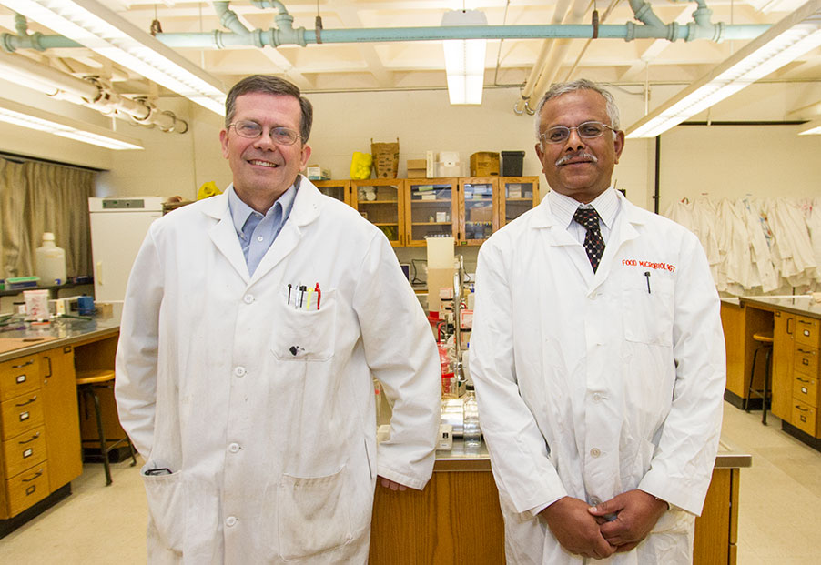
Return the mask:
<path id="1" fill-rule="evenodd" d="M 88 198 L 94 299 L 126 298 L 126 284 L 151 222 L 163 214 L 163 197 Z"/>

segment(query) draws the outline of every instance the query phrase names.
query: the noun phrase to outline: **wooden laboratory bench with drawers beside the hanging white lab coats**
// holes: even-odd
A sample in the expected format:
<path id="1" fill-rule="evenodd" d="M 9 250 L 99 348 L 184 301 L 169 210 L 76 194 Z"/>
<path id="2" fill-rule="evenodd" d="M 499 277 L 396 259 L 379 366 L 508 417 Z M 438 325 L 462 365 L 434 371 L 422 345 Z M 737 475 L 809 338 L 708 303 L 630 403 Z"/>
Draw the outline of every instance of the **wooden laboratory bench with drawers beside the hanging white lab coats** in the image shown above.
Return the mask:
<path id="1" fill-rule="evenodd" d="M 821 304 L 813 298 L 724 298 L 721 302 L 727 354 L 725 399 L 742 409 L 761 409 L 763 400 L 750 398 L 750 383 L 763 389 L 764 362 L 755 363 L 761 347 L 753 334 L 772 332 L 771 398 L 768 408 L 781 419 L 781 428 L 821 450 L 821 388 L 818 354 L 821 349 Z"/>

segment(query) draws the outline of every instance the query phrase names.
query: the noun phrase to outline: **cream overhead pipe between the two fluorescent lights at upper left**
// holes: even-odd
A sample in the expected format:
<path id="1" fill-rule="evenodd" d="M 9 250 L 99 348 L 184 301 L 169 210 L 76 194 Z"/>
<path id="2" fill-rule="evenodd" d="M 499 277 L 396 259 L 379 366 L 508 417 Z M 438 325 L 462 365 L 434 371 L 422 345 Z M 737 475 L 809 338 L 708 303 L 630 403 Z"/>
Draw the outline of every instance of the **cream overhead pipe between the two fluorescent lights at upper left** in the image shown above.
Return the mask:
<path id="1" fill-rule="evenodd" d="M 41 86 L 48 96 L 94 108 L 106 116 L 127 117 L 142 126 L 184 134 L 188 123 L 173 112 L 161 111 L 145 99 L 131 99 L 112 91 L 96 77 L 77 78 L 36 63 L 23 55 L 0 52 L 0 69 Z"/>

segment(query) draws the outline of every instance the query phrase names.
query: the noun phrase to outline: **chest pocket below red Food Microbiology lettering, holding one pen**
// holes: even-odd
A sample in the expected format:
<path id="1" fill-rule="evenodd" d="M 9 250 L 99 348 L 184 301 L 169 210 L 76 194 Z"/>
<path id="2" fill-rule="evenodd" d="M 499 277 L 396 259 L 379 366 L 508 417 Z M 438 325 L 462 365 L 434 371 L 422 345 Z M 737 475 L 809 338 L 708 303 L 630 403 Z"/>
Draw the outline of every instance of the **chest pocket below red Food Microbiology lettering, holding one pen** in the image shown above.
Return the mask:
<path id="1" fill-rule="evenodd" d="M 624 339 L 669 346 L 673 343 L 673 280 L 661 272 L 631 275 L 622 290 Z"/>

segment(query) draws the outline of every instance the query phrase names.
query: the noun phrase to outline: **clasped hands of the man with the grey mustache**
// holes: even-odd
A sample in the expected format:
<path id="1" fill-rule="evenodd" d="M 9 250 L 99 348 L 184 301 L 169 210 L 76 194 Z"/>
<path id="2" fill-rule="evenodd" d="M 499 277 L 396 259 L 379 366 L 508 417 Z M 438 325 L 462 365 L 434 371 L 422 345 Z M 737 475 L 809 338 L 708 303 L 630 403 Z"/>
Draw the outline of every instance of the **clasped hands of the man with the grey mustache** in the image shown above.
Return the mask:
<path id="1" fill-rule="evenodd" d="M 641 543 L 665 510 L 664 500 L 635 489 L 595 507 L 584 500 L 564 497 L 539 516 L 565 550 L 601 560 Z"/>

